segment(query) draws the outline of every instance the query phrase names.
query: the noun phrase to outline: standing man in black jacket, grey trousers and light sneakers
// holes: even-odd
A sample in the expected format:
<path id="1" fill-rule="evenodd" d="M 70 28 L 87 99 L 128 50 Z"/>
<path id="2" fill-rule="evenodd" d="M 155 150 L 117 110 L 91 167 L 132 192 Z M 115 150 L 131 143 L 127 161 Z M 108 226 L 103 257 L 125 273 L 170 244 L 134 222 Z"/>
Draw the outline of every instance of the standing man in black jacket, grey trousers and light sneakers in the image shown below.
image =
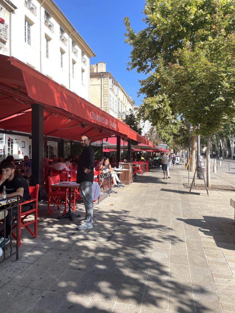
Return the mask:
<path id="1" fill-rule="evenodd" d="M 88 136 L 81 136 L 82 153 L 77 165 L 77 183 L 80 184 L 80 193 L 85 204 L 86 217 L 80 220 L 77 229 L 93 228 L 93 199 L 92 185 L 94 181 L 95 153 L 91 149 Z"/>

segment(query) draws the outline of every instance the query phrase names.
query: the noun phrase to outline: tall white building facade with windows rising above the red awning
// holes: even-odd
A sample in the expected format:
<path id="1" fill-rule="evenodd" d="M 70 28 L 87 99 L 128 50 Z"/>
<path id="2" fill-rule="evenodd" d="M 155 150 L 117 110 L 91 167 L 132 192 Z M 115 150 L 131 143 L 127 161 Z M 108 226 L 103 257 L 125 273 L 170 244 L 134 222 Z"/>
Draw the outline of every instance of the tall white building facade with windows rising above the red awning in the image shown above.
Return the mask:
<path id="1" fill-rule="evenodd" d="M 90 57 L 95 54 L 54 1 L 12 0 L 12 4 L 17 8 L 11 14 L 5 54 L 90 101 Z"/>

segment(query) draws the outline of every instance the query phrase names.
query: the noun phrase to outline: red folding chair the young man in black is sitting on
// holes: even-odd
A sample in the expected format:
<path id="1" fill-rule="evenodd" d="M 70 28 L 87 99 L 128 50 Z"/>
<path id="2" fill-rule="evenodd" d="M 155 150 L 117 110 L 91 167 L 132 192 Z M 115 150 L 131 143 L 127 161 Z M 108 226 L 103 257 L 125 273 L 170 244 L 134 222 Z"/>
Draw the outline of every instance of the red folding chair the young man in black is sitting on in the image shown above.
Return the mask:
<path id="1" fill-rule="evenodd" d="M 19 246 L 21 245 L 21 241 L 20 241 L 20 236 L 21 236 L 21 228 L 25 227 L 29 233 L 31 233 L 31 235 L 36 238 L 37 237 L 37 228 L 38 228 L 38 191 L 39 191 L 39 184 L 37 184 L 36 186 L 30 186 L 29 187 L 29 193 L 30 193 L 30 197 L 31 199 L 28 201 L 24 201 L 21 202 L 19 204 L 19 237 L 18 237 L 18 243 Z M 22 212 L 22 206 L 24 204 L 29 204 L 29 203 L 34 203 L 34 208 L 30 209 L 29 211 L 26 212 Z M 34 219 L 29 221 L 29 222 L 25 222 L 25 219 L 31 215 L 34 214 Z M 16 217 L 14 218 L 14 221 L 16 221 Z M 29 228 L 30 224 L 34 224 L 34 232 Z M 16 228 L 16 224 L 13 226 L 12 229 Z M 12 231 L 12 235 L 13 237 L 16 239 L 16 234 L 13 233 Z"/>

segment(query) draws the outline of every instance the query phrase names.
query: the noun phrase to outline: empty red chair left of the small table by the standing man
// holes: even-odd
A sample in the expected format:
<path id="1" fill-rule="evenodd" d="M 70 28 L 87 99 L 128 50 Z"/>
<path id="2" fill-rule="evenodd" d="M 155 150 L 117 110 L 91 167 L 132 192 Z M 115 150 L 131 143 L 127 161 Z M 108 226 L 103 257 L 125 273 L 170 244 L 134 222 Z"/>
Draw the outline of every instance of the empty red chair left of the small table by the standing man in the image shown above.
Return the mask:
<path id="1" fill-rule="evenodd" d="M 51 215 L 54 211 L 55 206 L 57 206 L 57 210 L 60 210 L 60 205 L 62 204 L 60 200 L 65 201 L 65 208 L 63 214 L 66 213 L 66 207 L 69 203 L 68 199 L 68 190 L 67 188 L 55 187 L 51 186 L 52 184 L 56 184 L 60 182 L 60 176 L 48 176 L 48 207 L 47 207 L 47 215 Z M 50 205 L 53 205 L 53 208 L 50 210 Z M 75 204 L 74 204 L 75 206 Z"/>

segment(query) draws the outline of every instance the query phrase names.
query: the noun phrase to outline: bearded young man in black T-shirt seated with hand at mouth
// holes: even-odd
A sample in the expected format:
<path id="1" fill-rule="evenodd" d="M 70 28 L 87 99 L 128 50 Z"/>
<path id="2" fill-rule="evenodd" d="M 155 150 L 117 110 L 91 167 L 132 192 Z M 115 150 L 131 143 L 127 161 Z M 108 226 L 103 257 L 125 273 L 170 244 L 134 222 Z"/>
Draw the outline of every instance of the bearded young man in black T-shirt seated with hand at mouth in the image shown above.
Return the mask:
<path id="1" fill-rule="evenodd" d="M 2 166 L 3 176 L 0 180 L 0 192 L 3 192 L 3 186 L 6 186 L 7 197 L 14 197 L 16 195 L 21 195 L 23 197 L 23 201 L 30 200 L 29 186 L 26 180 L 19 176 L 15 175 L 15 169 L 13 168 L 13 164 L 10 162 L 6 162 Z M 29 211 L 32 208 L 31 204 L 22 206 L 22 212 Z M 11 232 L 11 214 L 10 210 L 8 210 L 8 215 L 6 216 L 6 238 L 5 244 L 10 242 L 8 236 Z M 17 213 L 17 208 L 12 209 L 12 216 L 14 217 Z M 4 239 L 3 233 L 0 232 L 0 248 L 4 247 Z"/>

